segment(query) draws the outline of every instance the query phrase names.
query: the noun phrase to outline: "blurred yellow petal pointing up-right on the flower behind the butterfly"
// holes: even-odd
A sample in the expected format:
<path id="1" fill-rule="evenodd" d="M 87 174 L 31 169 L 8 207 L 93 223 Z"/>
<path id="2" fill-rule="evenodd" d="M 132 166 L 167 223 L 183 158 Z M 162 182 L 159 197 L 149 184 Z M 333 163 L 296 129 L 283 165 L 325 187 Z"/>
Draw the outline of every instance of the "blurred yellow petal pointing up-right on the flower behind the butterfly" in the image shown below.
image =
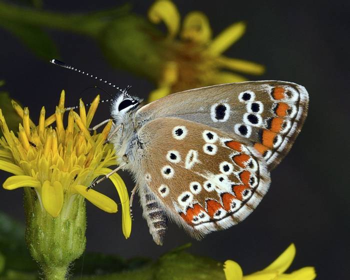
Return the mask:
<path id="1" fill-rule="evenodd" d="M 225 51 L 231 44 L 237 41 L 245 31 L 245 23 L 240 21 L 231 24 L 218 34 L 209 44 L 207 51 L 212 55 L 218 55 Z"/>

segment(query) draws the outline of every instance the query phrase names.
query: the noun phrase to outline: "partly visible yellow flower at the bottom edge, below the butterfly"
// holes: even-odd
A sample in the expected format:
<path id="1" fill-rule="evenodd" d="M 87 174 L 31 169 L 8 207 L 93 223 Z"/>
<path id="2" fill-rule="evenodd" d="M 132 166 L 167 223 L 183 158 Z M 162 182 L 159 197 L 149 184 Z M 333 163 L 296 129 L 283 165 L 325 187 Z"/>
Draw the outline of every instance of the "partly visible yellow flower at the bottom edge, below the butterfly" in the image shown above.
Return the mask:
<path id="1" fill-rule="evenodd" d="M 290 244 L 280 256 L 261 271 L 243 276 L 239 264 L 233 260 L 226 260 L 223 271 L 226 280 L 312 280 L 316 277 L 313 267 L 303 267 L 291 273 L 283 273 L 291 264 L 295 256 L 295 246 Z"/>

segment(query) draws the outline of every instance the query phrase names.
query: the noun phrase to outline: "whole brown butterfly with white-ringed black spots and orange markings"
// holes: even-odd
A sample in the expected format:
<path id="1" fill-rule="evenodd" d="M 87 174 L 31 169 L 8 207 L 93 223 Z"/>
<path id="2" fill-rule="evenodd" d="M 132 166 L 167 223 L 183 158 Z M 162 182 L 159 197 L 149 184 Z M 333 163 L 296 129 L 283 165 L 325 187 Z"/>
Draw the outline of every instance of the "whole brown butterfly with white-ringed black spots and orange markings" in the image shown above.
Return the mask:
<path id="1" fill-rule="evenodd" d="M 308 106 L 303 86 L 275 80 L 190 89 L 145 105 L 119 91 L 109 140 L 118 168 L 134 178 L 131 196 L 138 193 L 156 244 L 163 243 L 168 220 L 200 239 L 246 218 Z"/>

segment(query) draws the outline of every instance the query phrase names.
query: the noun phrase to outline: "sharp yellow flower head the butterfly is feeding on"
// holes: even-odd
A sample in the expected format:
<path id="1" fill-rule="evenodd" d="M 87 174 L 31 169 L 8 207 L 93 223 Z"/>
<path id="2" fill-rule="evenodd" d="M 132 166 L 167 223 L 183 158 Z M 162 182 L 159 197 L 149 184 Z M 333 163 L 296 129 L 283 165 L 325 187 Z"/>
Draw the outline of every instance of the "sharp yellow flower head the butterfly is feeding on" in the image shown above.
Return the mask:
<path id="1" fill-rule="evenodd" d="M 88 112 L 80 100 L 79 114 L 69 111 L 67 125 L 63 126 L 64 91 L 62 90 L 55 113 L 45 118 L 45 108 L 40 111 L 38 124 L 29 118 L 27 107 L 22 109 L 16 102 L 12 106 L 22 118 L 18 135 L 9 131 L 0 109 L 0 169 L 13 173 L 3 188 L 32 187 L 40 200 L 42 209 L 52 217 L 60 214 L 63 201 L 74 195 L 82 195 L 100 209 L 113 213 L 117 204 L 93 189 L 86 187 L 100 175 L 110 172 L 116 157 L 112 145 L 105 144 L 112 121 L 101 133 L 88 131 L 97 109 L 99 96 L 93 100 Z M 55 122 L 53 128 L 51 124 Z M 118 174 L 109 177 L 122 202 L 122 231 L 127 238 L 131 231 L 129 197 L 124 182 Z"/>

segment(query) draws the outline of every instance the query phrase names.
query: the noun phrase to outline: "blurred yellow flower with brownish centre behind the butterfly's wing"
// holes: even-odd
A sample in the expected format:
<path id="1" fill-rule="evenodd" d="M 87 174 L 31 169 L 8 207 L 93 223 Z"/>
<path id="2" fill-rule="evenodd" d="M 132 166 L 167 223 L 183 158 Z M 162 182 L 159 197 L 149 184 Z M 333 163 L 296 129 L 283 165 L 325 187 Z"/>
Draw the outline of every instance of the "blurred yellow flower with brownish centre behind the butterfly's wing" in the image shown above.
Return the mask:
<path id="1" fill-rule="evenodd" d="M 167 37 L 160 41 L 165 62 L 158 88 L 150 93 L 149 101 L 184 89 L 246 80 L 239 74 L 222 69 L 253 75 L 264 72 L 260 64 L 221 55 L 244 34 L 244 22 L 231 24 L 212 39 L 206 15 L 192 11 L 183 19 L 179 31 L 180 16 L 170 0 L 155 1 L 149 8 L 148 18 L 153 23 L 163 21 L 168 29 Z M 175 37 L 178 33 L 180 39 Z"/>

